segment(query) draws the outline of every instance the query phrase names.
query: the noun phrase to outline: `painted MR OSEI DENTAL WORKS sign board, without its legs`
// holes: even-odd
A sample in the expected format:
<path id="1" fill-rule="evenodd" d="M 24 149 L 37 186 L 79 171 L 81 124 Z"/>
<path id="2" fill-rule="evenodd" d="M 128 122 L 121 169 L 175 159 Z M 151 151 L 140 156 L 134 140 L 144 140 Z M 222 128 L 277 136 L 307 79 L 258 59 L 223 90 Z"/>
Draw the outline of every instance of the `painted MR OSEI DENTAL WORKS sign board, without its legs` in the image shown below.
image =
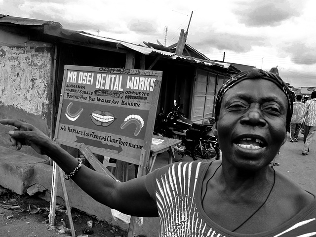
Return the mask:
<path id="1" fill-rule="evenodd" d="M 65 65 L 56 141 L 138 164 L 161 78 L 160 71 Z"/>

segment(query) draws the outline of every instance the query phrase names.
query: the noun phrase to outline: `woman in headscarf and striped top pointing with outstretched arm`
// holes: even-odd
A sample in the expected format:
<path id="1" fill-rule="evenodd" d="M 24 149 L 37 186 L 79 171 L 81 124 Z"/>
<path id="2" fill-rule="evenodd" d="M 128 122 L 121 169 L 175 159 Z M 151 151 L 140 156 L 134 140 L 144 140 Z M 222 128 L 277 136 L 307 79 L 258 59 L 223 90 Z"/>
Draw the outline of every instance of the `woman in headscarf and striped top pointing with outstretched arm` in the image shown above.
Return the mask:
<path id="1" fill-rule="evenodd" d="M 276 74 L 240 73 L 216 100 L 213 132 L 222 160 L 174 163 L 124 183 L 78 168 L 76 158 L 30 124 L 0 123 L 17 127 L 9 132 L 13 146 L 49 156 L 97 201 L 133 216 L 159 215 L 161 237 L 316 236 L 315 196 L 269 165 L 286 141 L 292 106 Z"/>

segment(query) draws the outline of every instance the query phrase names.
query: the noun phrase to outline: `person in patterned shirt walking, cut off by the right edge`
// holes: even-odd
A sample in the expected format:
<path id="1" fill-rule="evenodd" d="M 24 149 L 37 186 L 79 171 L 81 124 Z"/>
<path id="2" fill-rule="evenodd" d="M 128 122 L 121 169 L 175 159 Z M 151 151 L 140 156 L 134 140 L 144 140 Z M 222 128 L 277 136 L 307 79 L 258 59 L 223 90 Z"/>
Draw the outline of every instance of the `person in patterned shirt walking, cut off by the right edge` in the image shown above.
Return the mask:
<path id="1" fill-rule="evenodd" d="M 302 155 L 308 155 L 310 145 L 316 133 L 316 91 L 312 92 L 311 100 L 307 100 L 304 104 L 299 123 L 304 121 L 304 148 Z"/>

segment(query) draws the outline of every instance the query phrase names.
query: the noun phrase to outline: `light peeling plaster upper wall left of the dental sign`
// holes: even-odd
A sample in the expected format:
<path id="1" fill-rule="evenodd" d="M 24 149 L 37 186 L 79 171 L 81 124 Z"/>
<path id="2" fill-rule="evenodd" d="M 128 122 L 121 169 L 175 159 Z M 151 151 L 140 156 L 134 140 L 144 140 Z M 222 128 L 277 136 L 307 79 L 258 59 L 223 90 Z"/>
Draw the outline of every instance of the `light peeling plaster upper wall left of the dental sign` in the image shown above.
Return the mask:
<path id="1" fill-rule="evenodd" d="M 6 33 L 8 34 L 8 33 Z M 2 32 L 0 32 L 2 35 Z M 16 35 L 12 35 L 17 38 Z M 0 37 L 0 104 L 27 113 L 47 115 L 47 86 L 50 85 L 51 45 L 26 42 L 10 45 Z M 7 37 L 6 37 L 7 38 Z"/>

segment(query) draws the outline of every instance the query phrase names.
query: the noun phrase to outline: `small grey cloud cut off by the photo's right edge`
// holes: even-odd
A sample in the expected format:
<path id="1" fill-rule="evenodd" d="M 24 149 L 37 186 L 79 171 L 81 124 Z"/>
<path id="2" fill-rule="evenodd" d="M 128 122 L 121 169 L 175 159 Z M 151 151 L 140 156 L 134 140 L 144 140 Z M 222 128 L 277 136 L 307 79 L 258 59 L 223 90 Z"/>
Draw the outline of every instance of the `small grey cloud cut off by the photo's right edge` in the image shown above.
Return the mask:
<path id="1" fill-rule="evenodd" d="M 301 42 L 293 42 L 283 46 L 282 50 L 290 55 L 291 61 L 295 64 L 316 64 L 316 45 L 307 46 Z"/>

